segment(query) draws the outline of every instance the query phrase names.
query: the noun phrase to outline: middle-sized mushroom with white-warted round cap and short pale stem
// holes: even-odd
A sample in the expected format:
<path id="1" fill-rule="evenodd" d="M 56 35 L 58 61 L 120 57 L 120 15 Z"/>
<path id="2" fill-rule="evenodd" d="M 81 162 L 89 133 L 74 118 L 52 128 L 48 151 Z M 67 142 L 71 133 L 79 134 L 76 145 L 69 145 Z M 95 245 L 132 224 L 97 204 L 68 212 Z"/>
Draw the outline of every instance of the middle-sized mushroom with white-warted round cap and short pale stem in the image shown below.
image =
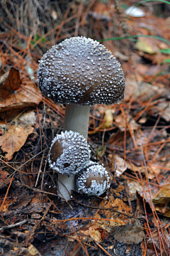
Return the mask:
<path id="1" fill-rule="evenodd" d="M 62 198 L 70 198 L 75 174 L 89 164 L 90 153 L 86 139 L 78 132 L 65 131 L 53 139 L 48 161 L 58 173 L 57 190 Z"/>

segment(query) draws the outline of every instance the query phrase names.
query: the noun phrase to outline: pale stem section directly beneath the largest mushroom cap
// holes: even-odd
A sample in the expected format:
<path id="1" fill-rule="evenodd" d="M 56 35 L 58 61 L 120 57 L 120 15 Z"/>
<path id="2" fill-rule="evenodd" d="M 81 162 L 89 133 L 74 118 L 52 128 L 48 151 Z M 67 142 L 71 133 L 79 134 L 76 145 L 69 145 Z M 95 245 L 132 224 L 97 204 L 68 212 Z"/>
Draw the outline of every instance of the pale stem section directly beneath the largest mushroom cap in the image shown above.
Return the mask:
<path id="1" fill-rule="evenodd" d="M 79 132 L 87 139 L 89 129 L 90 106 L 69 104 L 66 106 L 64 131 Z"/>

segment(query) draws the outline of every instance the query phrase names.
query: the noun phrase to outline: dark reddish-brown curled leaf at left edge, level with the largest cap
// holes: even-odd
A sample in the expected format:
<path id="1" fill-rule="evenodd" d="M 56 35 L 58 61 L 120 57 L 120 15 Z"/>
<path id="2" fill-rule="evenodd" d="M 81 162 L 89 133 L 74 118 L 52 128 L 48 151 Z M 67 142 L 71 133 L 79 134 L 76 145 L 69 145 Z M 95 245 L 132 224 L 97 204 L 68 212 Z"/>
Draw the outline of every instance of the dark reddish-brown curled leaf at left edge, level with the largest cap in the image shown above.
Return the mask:
<path id="1" fill-rule="evenodd" d="M 0 87 L 0 95 L 2 99 L 5 99 L 8 95 L 14 94 L 21 86 L 21 82 L 19 70 L 11 68 L 6 82 L 4 82 L 4 85 L 1 85 Z"/>

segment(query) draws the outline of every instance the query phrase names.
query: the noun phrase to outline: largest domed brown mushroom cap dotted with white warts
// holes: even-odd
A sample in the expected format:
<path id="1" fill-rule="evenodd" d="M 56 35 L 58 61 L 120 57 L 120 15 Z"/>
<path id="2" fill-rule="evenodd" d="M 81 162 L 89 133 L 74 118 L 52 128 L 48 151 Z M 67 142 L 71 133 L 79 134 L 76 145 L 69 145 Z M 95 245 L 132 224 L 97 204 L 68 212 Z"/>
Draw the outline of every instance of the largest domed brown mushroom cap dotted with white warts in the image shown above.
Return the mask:
<path id="1" fill-rule="evenodd" d="M 56 103 L 111 105 L 123 100 L 125 77 L 111 51 L 78 36 L 52 46 L 42 56 L 38 85 Z"/>

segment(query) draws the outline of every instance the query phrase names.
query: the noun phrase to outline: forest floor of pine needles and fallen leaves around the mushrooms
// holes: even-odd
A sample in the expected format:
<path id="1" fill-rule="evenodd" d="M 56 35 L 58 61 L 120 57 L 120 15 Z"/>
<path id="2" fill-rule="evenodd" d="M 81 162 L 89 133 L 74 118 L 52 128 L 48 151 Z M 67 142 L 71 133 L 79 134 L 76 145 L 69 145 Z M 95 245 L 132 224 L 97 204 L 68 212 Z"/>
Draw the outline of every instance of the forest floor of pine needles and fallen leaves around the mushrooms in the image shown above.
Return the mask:
<path id="1" fill-rule="evenodd" d="M 1 1 L 1 255 L 170 255 L 170 8 L 143 1 L 125 13 L 135 2 Z M 90 112 L 91 159 L 111 188 L 60 201 L 47 156 L 65 107 L 36 79 L 42 55 L 71 36 L 111 50 L 125 98 Z"/>

